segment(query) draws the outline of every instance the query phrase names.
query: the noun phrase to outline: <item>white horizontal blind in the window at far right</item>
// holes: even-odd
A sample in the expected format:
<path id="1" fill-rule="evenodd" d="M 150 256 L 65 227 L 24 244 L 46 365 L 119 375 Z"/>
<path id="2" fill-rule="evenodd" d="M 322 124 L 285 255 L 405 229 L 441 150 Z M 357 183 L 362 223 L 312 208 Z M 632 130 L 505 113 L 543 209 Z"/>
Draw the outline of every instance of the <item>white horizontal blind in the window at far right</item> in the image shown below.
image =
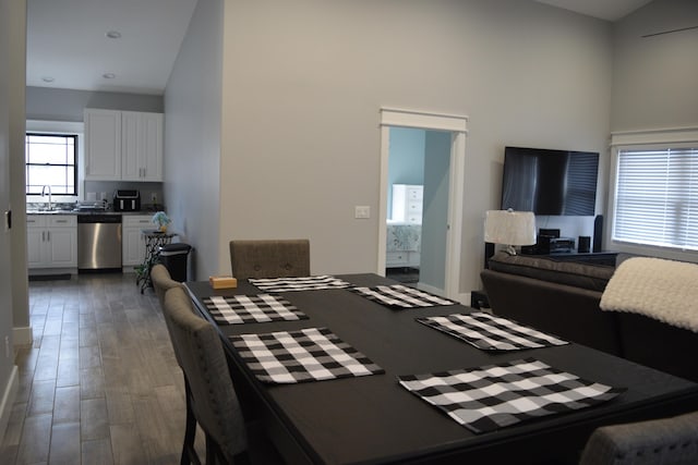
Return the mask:
<path id="1" fill-rule="evenodd" d="M 618 150 L 613 238 L 698 250 L 698 148 Z"/>

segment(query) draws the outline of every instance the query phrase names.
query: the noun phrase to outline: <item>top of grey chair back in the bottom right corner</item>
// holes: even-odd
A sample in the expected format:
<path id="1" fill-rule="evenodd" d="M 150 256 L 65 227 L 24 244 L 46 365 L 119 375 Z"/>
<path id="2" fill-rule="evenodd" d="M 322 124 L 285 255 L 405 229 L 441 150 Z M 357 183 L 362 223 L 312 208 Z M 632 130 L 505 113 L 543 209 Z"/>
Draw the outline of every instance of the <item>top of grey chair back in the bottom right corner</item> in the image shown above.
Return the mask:
<path id="1" fill-rule="evenodd" d="M 698 412 L 597 428 L 580 465 L 698 464 Z"/>

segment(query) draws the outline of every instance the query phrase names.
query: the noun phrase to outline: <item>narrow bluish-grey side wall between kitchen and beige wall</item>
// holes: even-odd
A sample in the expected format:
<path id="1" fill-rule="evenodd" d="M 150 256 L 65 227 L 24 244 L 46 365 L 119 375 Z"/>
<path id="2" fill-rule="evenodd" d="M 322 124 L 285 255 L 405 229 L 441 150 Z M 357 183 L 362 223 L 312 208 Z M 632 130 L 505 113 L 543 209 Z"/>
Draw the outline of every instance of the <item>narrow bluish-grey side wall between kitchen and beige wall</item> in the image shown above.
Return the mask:
<path id="1" fill-rule="evenodd" d="M 220 170 L 222 10 L 224 0 L 197 2 L 165 93 L 164 191 L 180 242 L 194 246 L 190 279 L 230 267 L 218 250 L 220 183 L 231 181 Z"/>

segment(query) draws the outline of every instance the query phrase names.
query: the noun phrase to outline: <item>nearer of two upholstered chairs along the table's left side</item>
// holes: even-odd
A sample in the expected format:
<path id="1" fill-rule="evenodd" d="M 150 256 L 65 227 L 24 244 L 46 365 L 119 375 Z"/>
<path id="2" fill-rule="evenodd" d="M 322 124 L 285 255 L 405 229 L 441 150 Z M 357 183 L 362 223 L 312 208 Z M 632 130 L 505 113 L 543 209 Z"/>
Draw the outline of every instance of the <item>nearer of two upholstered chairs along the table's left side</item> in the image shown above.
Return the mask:
<path id="1" fill-rule="evenodd" d="M 201 463 L 194 449 L 196 423 L 206 435 L 207 464 L 250 463 L 246 427 L 220 336 L 194 314 L 181 286 L 165 293 L 164 314 L 186 388 L 181 464 Z"/>

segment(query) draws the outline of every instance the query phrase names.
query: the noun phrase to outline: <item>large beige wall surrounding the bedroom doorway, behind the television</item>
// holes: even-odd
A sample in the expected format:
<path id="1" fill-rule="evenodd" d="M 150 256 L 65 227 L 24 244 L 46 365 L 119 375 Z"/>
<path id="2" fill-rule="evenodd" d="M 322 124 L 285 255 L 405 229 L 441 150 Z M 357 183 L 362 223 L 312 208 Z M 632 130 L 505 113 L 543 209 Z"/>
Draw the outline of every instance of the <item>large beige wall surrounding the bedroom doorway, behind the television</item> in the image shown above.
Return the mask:
<path id="1" fill-rule="evenodd" d="M 229 271 L 233 237 L 310 237 L 313 272 L 375 270 L 381 107 L 470 118 L 462 292 L 480 286 L 483 215 L 500 203 L 504 146 L 607 155 L 605 22 L 519 0 L 225 5 L 219 237 L 217 249 L 200 250 L 201 270 Z M 194 33 L 203 34 L 201 27 Z M 192 97 L 209 79 L 212 70 L 185 56 L 182 50 L 168 86 L 166 119 L 191 117 L 184 109 L 170 117 L 169 96 L 197 106 Z M 200 123 L 183 123 L 172 126 L 181 134 L 168 136 L 168 157 L 196 169 L 191 158 L 213 142 L 201 138 Z M 191 142 L 179 147 L 174 142 L 182 139 Z M 217 175 L 210 157 L 207 170 L 197 171 L 205 183 Z M 167 174 L 182 186 L 192 178 L 185 169 Z M 182 198 L 197 193 L 182 186 Z M 200 201 L 217 201 L 213 191 L 202 192 Z M 356 220 L 357 205 L 371 206 L 372 218 Z M 209 224 L 189 224 L 196 247 L 213 236 L 203 232 Z"/>

